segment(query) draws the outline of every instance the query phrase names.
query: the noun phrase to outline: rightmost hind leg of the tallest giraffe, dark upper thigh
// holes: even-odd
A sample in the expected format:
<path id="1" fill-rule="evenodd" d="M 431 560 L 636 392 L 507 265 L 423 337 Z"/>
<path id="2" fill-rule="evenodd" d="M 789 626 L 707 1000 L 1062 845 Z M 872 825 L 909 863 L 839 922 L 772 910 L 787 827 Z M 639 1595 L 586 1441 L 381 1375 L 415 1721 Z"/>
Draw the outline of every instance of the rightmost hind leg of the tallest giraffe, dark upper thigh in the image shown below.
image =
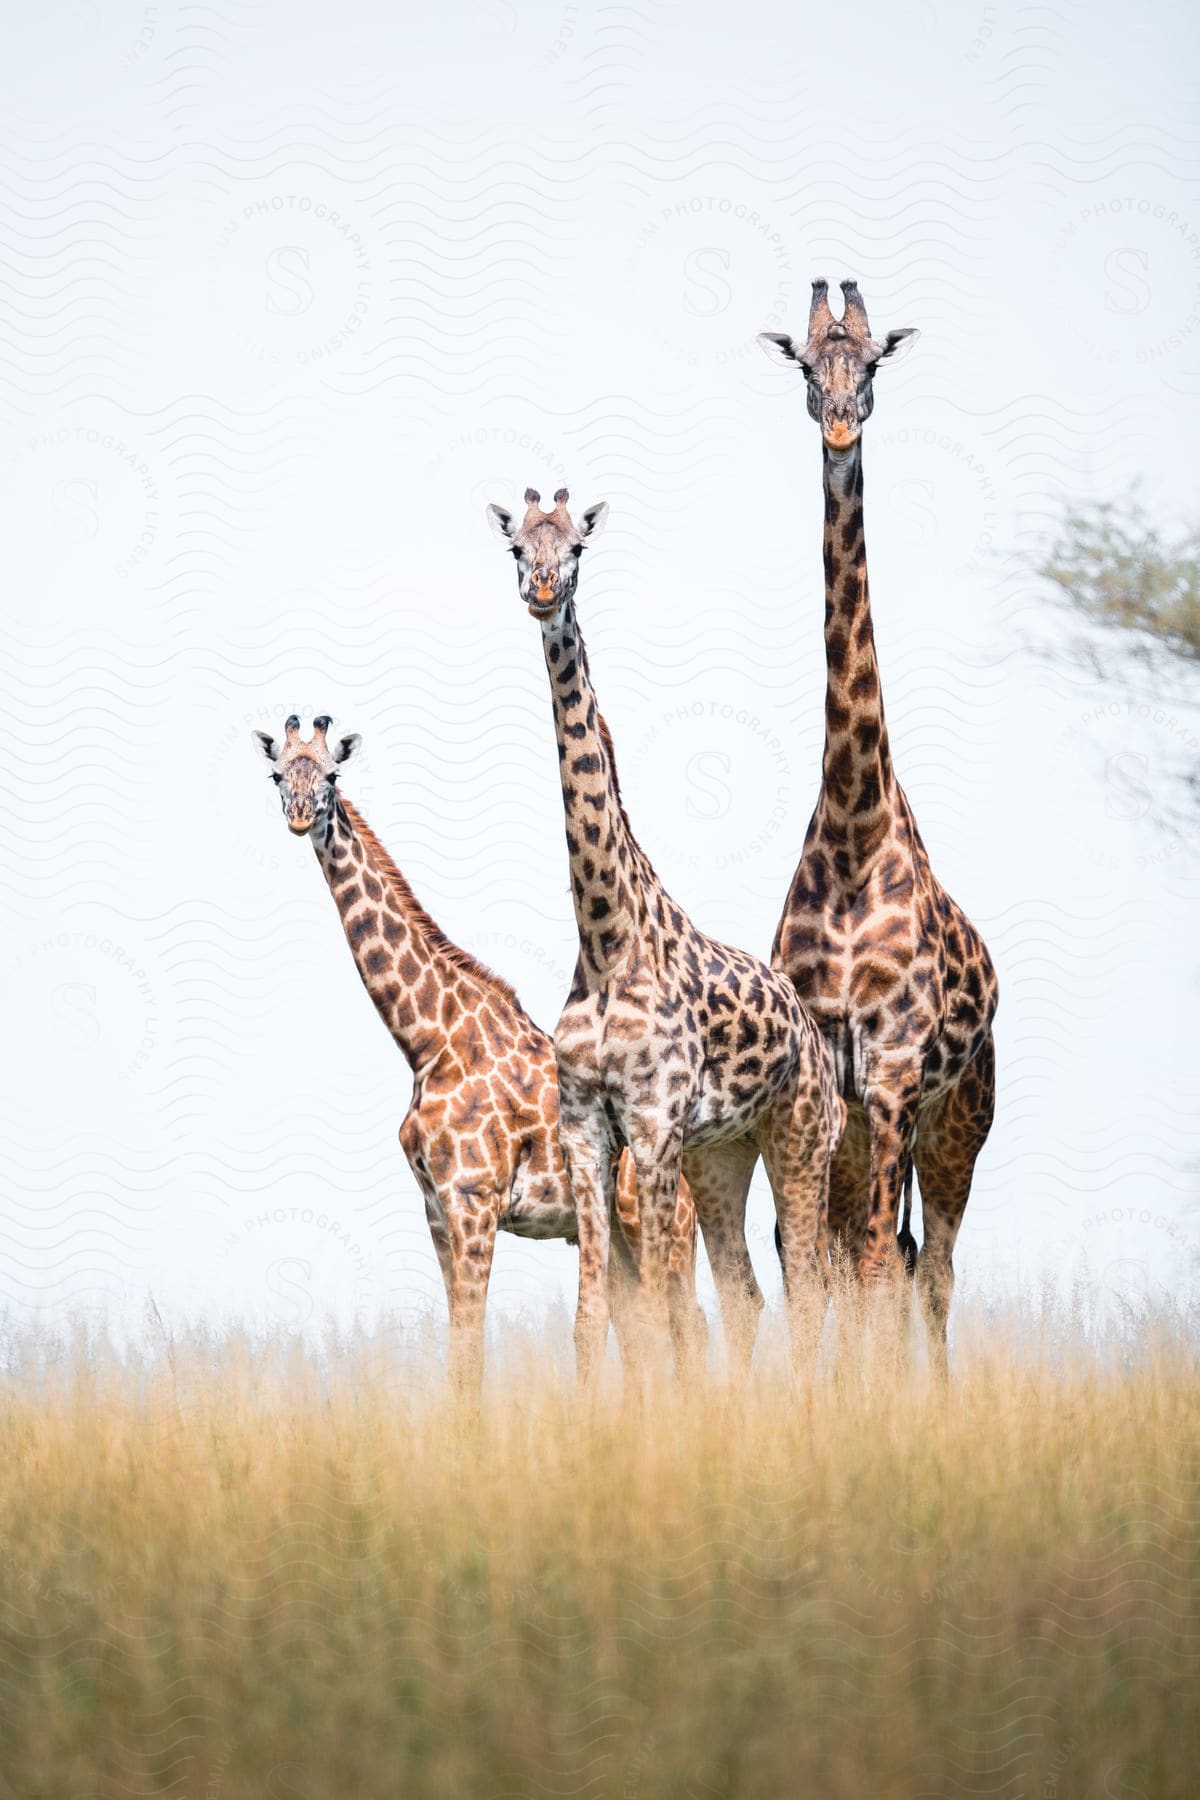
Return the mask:
<path id="1" fill-rule="evenodd" d="M 995 1046 L 988 1033 L 957 1084 L 921 1114 L 914 1147 L 925 1238 L 918 1256 L 918 1296 L 930 1357 L 943 1375 L 948 1368 L 946 1318 L 954 1292 L 954 1244 L 972 1193 L 975 1157 L 991 1130 L 995 1084 Z"/>

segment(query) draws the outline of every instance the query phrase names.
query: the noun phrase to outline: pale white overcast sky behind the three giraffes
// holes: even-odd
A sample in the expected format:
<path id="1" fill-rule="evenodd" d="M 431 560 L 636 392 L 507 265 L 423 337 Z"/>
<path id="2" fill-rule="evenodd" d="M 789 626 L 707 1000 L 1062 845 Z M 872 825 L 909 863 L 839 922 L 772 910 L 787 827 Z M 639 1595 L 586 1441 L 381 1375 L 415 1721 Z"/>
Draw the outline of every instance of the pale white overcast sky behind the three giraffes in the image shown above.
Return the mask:
<path id="1" fill-rule="evenodd" d="M 820 454 L 752 338 L 815 274 L 923 331 L 867 544 L 900 774 L 1000 970 L 961 1282 L 1178 1287 L 1198 884 L 1160 821 L 1200 718 L 1034 655 L 1027 560 L 1067 499 L 1195 504 L 1193 11 L 396 11 L 106 0 L 5 45 L 0 1303 L 441 1314 L 408 1073 L 248 727 L 362 731 L 347 792 L 552 1024 L 556 758 L 489 499 L 612 502 L 579 610 L 635 828 L 766 952 L 820 754 Z M 752 1247 L 775 1292 L 761 1177 Z M 500 1244 L 500 1314 L 572 1289 Z"/>

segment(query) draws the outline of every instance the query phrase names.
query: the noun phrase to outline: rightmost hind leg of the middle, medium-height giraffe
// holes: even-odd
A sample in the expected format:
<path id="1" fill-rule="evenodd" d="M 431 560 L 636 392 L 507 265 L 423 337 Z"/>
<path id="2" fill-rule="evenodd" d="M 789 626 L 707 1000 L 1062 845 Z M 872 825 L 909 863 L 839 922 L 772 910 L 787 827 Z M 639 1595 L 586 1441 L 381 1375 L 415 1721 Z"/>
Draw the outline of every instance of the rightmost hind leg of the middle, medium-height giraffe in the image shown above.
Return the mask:
<path id="1" fill-rule="evenodd" d="M 763 1163 L 775 1199 L 775 1244 L 788 1303 L 792 1364 L 811 1364 L 829 1303 L 829 1163 L 824 1112 L 799 1082 L 766 1121 Z"/>

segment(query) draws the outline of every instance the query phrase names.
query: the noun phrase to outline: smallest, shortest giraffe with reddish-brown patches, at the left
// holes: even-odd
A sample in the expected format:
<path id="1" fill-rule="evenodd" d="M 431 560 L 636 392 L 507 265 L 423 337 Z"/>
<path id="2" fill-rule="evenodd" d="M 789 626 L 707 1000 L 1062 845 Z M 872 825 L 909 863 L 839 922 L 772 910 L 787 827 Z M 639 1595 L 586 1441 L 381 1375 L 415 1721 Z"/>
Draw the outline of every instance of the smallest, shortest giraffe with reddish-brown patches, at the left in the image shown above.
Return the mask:
<path id="1" fill-rule="evenodd" d="M 558 1148 L 554 1044 L 516 994 L 457 943 L 419 904 L 362 814 L 338 790 L 358 733 L 329 743 L 327 715 L 300 736 L 293 713 L 279 743 L 254 742 L 279 788 L 284 819 L 309 837 L 335 898 L 345 941 L 380 1019 L 412 1069 L 412 1103 L 399 1143 L 425 1197 L 425 1217 L 450 1305 L 452 1373 L 477 1388 L 497 1229 L 576 1242 L 576 1211 Z M 612 1312 L 622 1352 L 631 1330 L 640 1235 L 633 1166 L 626 1157 L 612 1202 L 617 1255 Z M 667 1220 L 673 1274 L 671 1336 L 680 1363 L 702 1352 L 694 1298 L 696 1213 L 680 1184 Z"/>

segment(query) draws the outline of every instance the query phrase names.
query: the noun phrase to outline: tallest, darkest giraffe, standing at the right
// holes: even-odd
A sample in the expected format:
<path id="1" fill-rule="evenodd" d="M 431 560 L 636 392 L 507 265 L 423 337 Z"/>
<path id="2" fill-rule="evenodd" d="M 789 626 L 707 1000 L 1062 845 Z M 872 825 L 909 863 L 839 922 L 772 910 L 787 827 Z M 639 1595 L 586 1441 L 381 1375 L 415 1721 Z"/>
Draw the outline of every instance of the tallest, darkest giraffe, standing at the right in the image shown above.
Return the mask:
<path id="1" fill-rule="evenodd" d="M 873 1283 L 898 1253 L 916 1283 L 936 1366 L 946 1366 L 954 1244 L 995 1111 L 988 949 L 937 882 L 892 769 L 867 592 L 862 427 L 882 362 L 912 329 L 871 337 L 858 284 L 842 319 L 813 283 L 808 340 L 765 331 L 799 369 L 824 459 L 826 742 L 820 794 L 775 932 L 772 963 L 795 981 L 837 1058 L 846 1136 L 829 1183 L 829 1231 Z M 910 1229 L 912 1166 L 925 1242 Z M 903 1222 L 896 1229 L 903 1190 Z"/>

